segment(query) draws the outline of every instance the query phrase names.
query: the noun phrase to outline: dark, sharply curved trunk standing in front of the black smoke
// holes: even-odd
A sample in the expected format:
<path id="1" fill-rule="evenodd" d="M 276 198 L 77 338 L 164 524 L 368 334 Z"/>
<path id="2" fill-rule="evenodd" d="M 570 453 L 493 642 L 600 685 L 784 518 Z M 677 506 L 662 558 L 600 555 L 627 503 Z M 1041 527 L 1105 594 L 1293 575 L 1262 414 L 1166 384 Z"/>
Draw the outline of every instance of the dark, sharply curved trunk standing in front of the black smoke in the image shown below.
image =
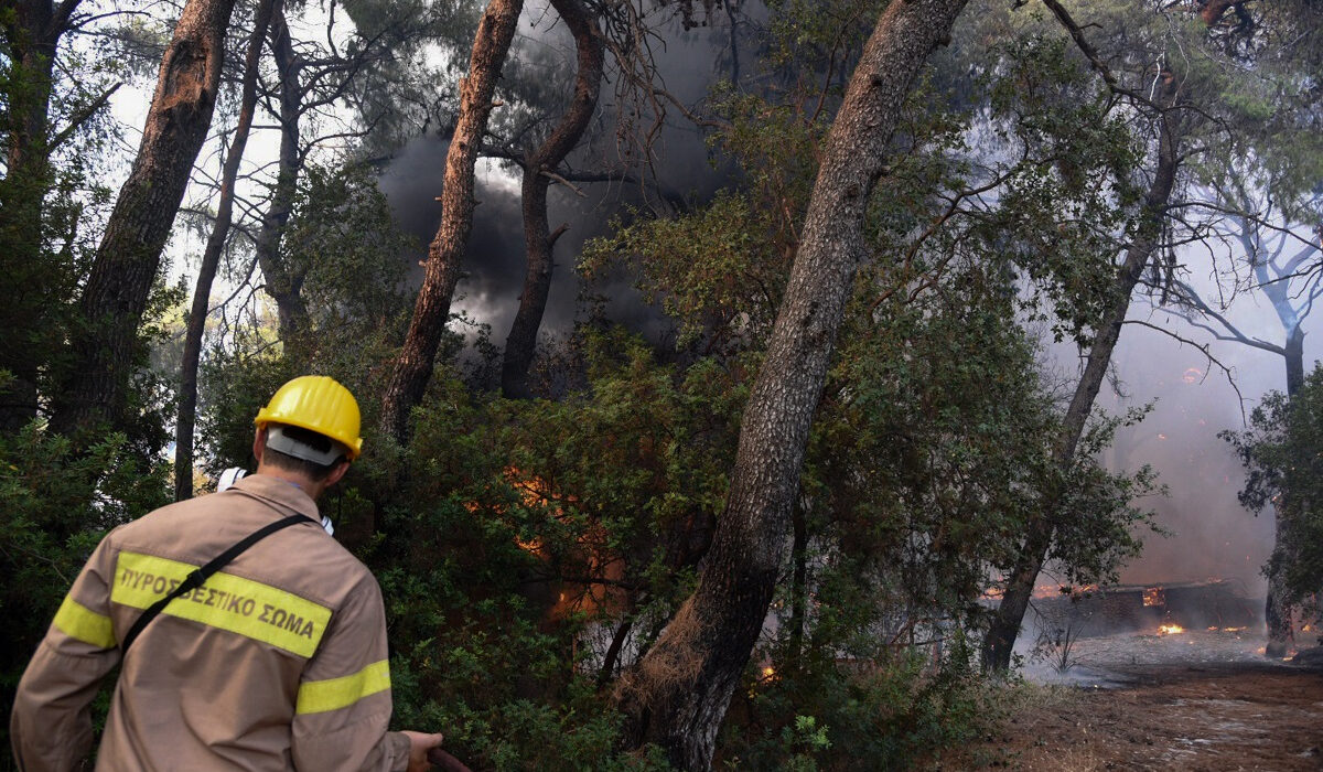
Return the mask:
<path id="1" fill-rule="evenodd" d="M 550 180 L 544 172 L 554 171 L 578 144 L 583 130 L 597 110 L 602 86 L 602 38 L 581 0 L 552 0 L 552 7 L 565 20 L 578 49 L 578 72 L 574 75 L 574 99 L 560 124 L 524 163 L 524 248 L 528 253 L 528 273 L 524 293 L 519 298 L 519 311 L 505 338 L 505 358 L 501 362 L 501 391 L 507 397 L 528 397 L 528 368 L 537 348 L 537 328 L 546 310 L 546 295 L 552 287 L 552 248 L 564 226 L 549 232 L 546 217 L 546 188 Z"/>

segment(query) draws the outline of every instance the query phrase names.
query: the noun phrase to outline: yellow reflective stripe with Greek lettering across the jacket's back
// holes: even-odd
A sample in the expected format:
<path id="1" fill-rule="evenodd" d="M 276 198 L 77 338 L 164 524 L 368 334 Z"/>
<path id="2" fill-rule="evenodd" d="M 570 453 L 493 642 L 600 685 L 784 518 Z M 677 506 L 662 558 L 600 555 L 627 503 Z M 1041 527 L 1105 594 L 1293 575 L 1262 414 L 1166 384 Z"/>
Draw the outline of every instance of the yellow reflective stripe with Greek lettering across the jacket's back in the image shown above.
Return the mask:
<path id="1" fill-rule="evenodd" d="M 144 609 L 179 587 L 194 568 L 165 557 L 120 552 L 110 600 Z M 225 572 L 179 596 L 161 613 L 238 633 L 300 657 L 318 650 L 331 621 L 331 609 L 325 606 Z"/>

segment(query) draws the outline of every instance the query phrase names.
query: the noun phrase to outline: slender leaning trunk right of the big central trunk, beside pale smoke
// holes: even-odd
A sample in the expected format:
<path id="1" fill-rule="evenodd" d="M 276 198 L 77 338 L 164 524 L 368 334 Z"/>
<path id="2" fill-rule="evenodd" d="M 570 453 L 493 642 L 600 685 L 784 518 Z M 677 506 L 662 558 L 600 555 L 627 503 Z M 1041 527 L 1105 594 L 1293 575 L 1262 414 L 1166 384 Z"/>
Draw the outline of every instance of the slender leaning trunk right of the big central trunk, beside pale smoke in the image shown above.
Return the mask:
<path id="1" fill-rule="evenodd" d="M 1144 266 L 1148 265 L 1160 246 L 1167 203 L 1171 200 L 1176 171 L 1180 166 L 1180 122 L 1171 115 L 1176 105 L 1176 78 L 1164 72 L 1162 73 L 1162 83 L 1163 93 L 1158 99 L 1163 110 L 1158 121 L 1158 168 L 1148 185 L 1148 192 L 1144 195 L 1144 207 L 1135 241 L 1126 250 L 1126 260 L 1117 271 L 1117 283 L 1111 290 L 1111 307 L 1099 319 L 1093 344 L 1089 347 L 1084 373 L 1080 376 L 1080 383 L 1076 384 L 1070 407 L 1061 424 L 1061 433 L 1057 436 L 1056 448 L 1053 448 L 1053 461 L 1060 469 L 1061 477 L 1065 477 L 1066 470 L 1074 463 L 1076 448 L 1080 445 L 1080 437 L 1084 434 L 1089 413 L 1093 410 L 1093 403 L 1107 375 L 1111 352 L 1117 347 L 1121 327 L 1130 310 L 1130 295 L 1134 293 L 1135 285 L 1139 283 Z M 1020 634 L 1024 613 L 1029 608 L 1029 599 L 1033 597 L 1033 585 L 1037 583 L 1039 572 L 1043 571 L 1043 564 L 1052 548 L 1056 518 L 1064 516 L 1062 512 L 1056 511 L 1058 498 L 1057 494 L 1049 491 L 1044 499 L 1043 511 L 1032 518 L 1025 527 L 1025 539 L 1019 559 L 1007 577 L 1002 603 L 998 604 L 998 610 L 983 640 L 983 666 L 988 670 L 1005 670 L 1011 666 L 1011 653 L 1015 648 L 1015 640 Z"/>

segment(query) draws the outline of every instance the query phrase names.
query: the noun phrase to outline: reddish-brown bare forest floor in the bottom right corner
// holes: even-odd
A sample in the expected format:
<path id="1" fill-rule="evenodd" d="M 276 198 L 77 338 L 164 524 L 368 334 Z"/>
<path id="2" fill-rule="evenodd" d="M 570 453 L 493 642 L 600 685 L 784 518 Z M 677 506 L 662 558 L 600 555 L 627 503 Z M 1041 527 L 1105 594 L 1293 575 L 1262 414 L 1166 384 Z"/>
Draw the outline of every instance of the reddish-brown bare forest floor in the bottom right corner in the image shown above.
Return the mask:
<path id="1" fill-rule="evenodd" d="M 930 768 L 1323 769 L 1323 669 L 1225 633 L 1080 644 L 1088 665 L 1028 686 L 990 734 Z"/>

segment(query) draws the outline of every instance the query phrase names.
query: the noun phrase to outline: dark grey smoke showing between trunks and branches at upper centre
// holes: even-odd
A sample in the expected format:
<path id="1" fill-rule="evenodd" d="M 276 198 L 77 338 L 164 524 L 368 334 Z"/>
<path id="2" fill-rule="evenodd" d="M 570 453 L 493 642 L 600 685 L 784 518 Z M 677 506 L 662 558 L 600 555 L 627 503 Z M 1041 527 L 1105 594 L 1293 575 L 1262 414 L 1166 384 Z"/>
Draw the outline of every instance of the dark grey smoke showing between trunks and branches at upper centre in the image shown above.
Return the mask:
<path id="1" fill-rule="evenodd" d="M 542 19 L 544 15 L 536 9 L 525 13 L 516 41 L 538 45 L 550 38 L 553 53 L 544 52 L 541 56 L 572 57 L 573 45 L 568 42 L 564 29 L 558 26 L 546 29 L 545 21 L 540 21 Z M 662 82 L 676 98 L 693 103 L 714 81 L 720 49 L 714 45 L 713 37 L 724 38 L 729 33 L 710 28 L 685 32 L 676 21 L 667 29 L 665 45 L 655 49 Z M 569 93 L 568 85 L 566 93 Z M 598 114 L 603 117 L 603 122 L 610 122 L 617 110 L 613 85 L 605 83 Z M 598 130 L 602 131 L 601 126 Z M 619 166 L 620 148 L 613 144 L 610 130 L 605 134 L 606 136 L 597 138 L 586 151 L 572 156 L 572 162 L 589 169 Z M 422 245 L 418 252 L 419 260 L 426 254 L 426 245 L 435 234 L 441 218 L 441 203 L 435 199 L 441 196 L 447 147 L 447 142 L 435 135 L 413 140 L 386 167 L 380 183 L 400 225 Z M 706 144 L 692 126 L 669 121 L 656 144 L 656 156 L 664 162 L 655 169 L 656 183 L 671 193 L 705 199 L 721 185 L 722 175 L 713 169 Z M 464 256 L 467 275 L 456 289 L 456 293 L 463 295 L 462 299 L 456 298 L 456 310 L 491 324 L 492 338 L 497 343 L 509 332 L 524 283 L 519 173 L 519 169 L 513 172 L 501 169 L 493 163 L 479 164 L 475 197 L 480 204 L 474 215 L 472 234 Z M 548 192 L 550 228 L 554 230 L 562 222 L 570 228 L 556 242 L 553 253 L 556 269 L 552 274 L 546 316 L 542 320 L 544 334 L 564 332 L 573 324 L 574 301 L 578 294 L 574 260 L 582 252 L 583 242 L 605 234 L 610 218 L 620 213 L 622 205 L 642 201 L 635 183 L 593 183 L 578 187 L 582 196 L 560 184 L 553 184 Z M 421 281 L 421 270 L 417 270 L 415 281 Z M 628 279 L 622 278 L 618 285 L 597 289 L 605 290 L 613 298 L 614 302 L 609 309 L 613 319 L 651 335 L 660 334 L 665 326 L 656 313 L 636 302 L 636 294 L 631 290 Z"/>

